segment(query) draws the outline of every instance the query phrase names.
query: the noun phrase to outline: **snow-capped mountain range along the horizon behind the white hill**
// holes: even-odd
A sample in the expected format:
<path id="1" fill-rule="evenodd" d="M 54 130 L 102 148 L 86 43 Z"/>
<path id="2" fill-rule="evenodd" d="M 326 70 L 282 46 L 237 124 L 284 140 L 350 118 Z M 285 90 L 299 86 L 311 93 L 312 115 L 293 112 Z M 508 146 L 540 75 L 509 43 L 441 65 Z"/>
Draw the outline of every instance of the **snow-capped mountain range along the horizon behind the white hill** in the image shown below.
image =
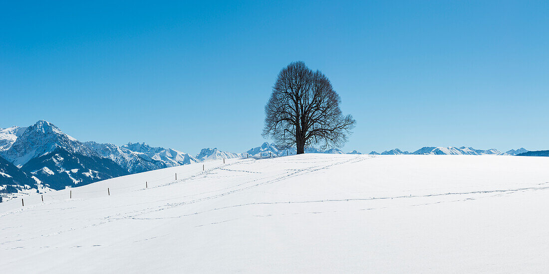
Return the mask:
<path id="1" fill-rule="evenodd" d="M 307 147 L 305 153 L 361 154 L 354 150 L 319 150 Z M 547 156 L 523 148 L 502 153 L 471 147 L 423 147 L 412 153 L 393 149 L 371 155 L 525 155 Z M 0 196 L 8 193 L 32 193 L 60 190 L 90 184 L 117 176 L 147 172 L 176 165 L 214 161 L 222 158 L 280 157 L 295 155 L 295 148 L 283 149 L 264 142 L 243 153 L 202 149 L 197 156 L 174 149 L 152 147 L 144 142 L 127 145 L 80 142 L 63 133 L 54 124 L 38 121 L 30 127 L 0 129 Z M 3 193 L 3 194 L 2 194 Z"/>

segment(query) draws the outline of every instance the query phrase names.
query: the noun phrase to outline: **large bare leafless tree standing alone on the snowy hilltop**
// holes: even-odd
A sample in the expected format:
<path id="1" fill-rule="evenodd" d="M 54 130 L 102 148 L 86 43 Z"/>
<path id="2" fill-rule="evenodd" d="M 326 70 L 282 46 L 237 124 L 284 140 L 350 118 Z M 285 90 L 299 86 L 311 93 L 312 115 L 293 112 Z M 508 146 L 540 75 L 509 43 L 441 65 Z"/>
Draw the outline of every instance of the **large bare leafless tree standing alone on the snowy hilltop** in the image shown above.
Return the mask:
<path id="1" fill-rule="evenodd" d="M 343 116 L 340 103 L 326 75 L 292 62 L 278 73 L 265 105 L 263 136 L 283 148 L 295 145 L 298 154 L 310 145 L 340 147 L 356 123 L 351 115 Z"/>

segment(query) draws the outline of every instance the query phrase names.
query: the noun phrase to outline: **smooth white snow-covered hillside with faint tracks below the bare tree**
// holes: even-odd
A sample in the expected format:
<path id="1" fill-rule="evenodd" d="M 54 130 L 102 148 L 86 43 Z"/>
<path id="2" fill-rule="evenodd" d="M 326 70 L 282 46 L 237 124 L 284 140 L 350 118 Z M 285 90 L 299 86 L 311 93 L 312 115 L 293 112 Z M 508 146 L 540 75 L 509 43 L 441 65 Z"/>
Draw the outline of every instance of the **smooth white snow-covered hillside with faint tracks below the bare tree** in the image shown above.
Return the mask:
<path id="1" fill-rule="evenodd" d="M 0 271 L 549 272 L 549 157 L 305 154 L 202 169 L 0 203 Z"/>

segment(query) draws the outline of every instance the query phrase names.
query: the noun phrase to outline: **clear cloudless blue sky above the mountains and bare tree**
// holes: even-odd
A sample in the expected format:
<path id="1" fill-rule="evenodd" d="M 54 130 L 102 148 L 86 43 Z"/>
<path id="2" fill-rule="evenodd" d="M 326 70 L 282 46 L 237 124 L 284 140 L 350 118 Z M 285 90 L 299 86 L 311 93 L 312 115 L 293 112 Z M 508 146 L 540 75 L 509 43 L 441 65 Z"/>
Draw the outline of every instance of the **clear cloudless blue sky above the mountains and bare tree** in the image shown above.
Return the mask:
<path id="1" fill-rule="evenodd" d="M 197 153 L 260 145 L 279 70 L 322 70 L 344 150 L 549 149 L 549 2 L 0 4 L 0 127 Z"/>

